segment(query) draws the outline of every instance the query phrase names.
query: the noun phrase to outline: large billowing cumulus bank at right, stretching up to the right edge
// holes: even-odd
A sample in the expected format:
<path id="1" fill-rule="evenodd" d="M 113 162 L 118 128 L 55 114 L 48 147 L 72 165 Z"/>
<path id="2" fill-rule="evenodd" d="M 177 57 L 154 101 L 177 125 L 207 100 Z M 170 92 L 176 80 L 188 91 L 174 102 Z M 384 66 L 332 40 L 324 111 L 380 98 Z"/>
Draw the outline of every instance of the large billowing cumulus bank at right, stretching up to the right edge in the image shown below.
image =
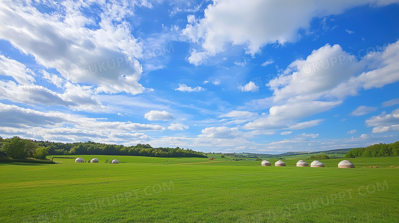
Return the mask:
<path id="1" fill-rule="evenodd" d="M 375 48 L 360 61 L 339 45 L 322 46 L 306 59 L 292 62 L 267 84 L 273 96 L 264 98 L 265 105 L 277 105 L 270 107 L 269 114 L 246 123 L 243 128 L 298 129 L 318 125 L 321 120 L 298 123 L 298 126 L 297 121 L 340 106 L 344 98 L 358 94 L 362 88 L 383 87 L 399 81 L 399 65 L 395 61 L 399 61 L 399 41 Z M 364 71 L 365 67 L 370 71 Z M 365 114 L 362 109 L 368 110 L 366 113 L 376 110 L 361 107 L 354 114 Z"/>

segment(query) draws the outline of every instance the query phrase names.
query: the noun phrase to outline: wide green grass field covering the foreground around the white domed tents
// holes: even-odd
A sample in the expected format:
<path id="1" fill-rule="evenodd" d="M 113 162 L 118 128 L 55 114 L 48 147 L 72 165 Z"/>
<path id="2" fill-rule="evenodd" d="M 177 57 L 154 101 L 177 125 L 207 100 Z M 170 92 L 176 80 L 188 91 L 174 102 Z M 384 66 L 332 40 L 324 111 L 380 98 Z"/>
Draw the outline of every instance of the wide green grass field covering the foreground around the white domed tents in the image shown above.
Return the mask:
<path id="1" fill-rule="evenodd" d="M 341 169 L 341 159 L 312 168 L 295 167 L 298 158 L 275 167 L 226 158 L 80 157 L 99 163 L 0 163 L 0 222 L 399 220 L 399 158 L 350 159 L 357 168 Z M 115 158 L 121 163 L 105 163 Z"/>

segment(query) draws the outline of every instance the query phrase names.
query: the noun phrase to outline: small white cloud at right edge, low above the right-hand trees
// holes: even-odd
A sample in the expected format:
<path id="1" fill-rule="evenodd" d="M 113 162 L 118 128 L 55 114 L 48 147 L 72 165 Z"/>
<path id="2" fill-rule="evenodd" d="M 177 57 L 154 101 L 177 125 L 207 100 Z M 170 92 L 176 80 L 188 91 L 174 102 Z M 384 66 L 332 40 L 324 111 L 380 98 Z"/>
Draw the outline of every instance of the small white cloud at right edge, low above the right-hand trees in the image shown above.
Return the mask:
<path id="1" fill-rule="evenodd" d="M 399 131 L 399 108 L 391 114 L 382 112 L 378 116 L 372 116 L 366 120 L 367 127 L 373 127 L 372 133 Z"/>

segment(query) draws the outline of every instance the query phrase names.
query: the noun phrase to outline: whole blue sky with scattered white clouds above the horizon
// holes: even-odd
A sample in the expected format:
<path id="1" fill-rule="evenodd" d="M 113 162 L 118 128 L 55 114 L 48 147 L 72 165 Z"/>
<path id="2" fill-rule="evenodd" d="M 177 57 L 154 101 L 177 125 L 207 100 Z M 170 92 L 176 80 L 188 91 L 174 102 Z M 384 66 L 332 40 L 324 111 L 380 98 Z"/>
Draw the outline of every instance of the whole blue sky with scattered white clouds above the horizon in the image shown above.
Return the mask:
<path id="1" fill-rule="evenodd" d="M 278 154 L 399 140 L 399 1 L 2 1 L 0 136 Z"/>

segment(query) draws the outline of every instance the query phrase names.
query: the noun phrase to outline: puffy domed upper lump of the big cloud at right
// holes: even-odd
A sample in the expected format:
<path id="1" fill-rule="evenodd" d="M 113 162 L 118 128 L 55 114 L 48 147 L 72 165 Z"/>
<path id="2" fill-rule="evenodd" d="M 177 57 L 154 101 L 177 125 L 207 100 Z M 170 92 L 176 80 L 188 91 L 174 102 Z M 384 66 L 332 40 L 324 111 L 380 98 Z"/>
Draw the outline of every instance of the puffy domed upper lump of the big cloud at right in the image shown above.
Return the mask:
<path id="1" fill-rule="evenodd" d="M 292 62 L 268 86 L 274 91 L 275 101 L 305 96 L 317 98 L 323 94 L 331 96 L 333 89 L 363 68 L 363 62 L 355 62 L 354 56 L 348 55 L 340 45 L 327 44 L 314 50 L 305 60 Z"/>

